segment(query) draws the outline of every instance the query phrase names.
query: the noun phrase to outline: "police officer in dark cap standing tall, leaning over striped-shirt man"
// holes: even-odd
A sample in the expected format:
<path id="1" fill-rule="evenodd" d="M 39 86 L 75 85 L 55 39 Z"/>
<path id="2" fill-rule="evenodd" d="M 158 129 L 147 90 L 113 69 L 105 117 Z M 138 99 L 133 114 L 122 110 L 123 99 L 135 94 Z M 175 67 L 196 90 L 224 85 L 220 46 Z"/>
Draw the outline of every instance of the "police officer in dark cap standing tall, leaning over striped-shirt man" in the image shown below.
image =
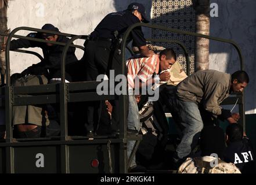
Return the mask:
<path id="1" fill-rule="evenodd" d="M 115 75 L 121 73 L 118 71 L 118 69 L 121 69 L 120 67 L 118 68 L 118 65 L 121 65 L 122 59 L 120 51 L 118 51 L 117 40 L 122 37 L 129 26 L 140 22 L 149 23 L 146 18 L 145 7 L 140 3 L 131 3 L 127 10 L 110 13 L 103 18 L 91 33 L 89 42 L 85 45 L 85 57 L 87 59 L 86 79 L 88 81 L 96 80 L 100 74 L 108 75 L 109 69 L 114 69 Z M 136 27 L 131 31 L 128 42 L 131 40 L 133 41 L 132 45 L 139 48 L 140 54 L 145 57 L 152 56 L 153 51 L 147 48 L 141 27 Z M 96 119 L 93 120 L 93 114 L 95 115 L 99 105 L 99 102 L 93 102 L 88 106 L 88 120 L 85 125 L 88 135 L 93 135 L 93 124 L 98 124 Z M 113 130 L 116 130 L 118 125 L 117 110 L 118 103 L 115 101 L 113 102 L 111 120 Z"/>

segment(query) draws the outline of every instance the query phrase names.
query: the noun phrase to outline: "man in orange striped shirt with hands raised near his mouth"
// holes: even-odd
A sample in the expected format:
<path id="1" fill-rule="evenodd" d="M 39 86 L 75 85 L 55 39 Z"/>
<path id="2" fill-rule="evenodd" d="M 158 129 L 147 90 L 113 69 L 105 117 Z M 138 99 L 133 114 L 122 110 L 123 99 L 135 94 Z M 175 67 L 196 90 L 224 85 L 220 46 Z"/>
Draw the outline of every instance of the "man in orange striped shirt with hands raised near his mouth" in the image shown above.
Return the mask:
<path id="1" fill-rule="evenodd" d="M 161 71 L 170 69 L 176 61 L 176 54 L 172 49 L 165 49 L 159 54 L 153 54 L 152 57 L 138 58 L 134 57 L 127 60 L 128 69 L 128 96 L 129 96 L 129 113 L 127 118 L 128 134 L 138 134 L 139 109 L 136 103 L 135 95 L 145 87 L 152 87 L 160 81 L 168 82 L 170 79 L 169 72 Z M 159 74 L 160 75 L 157 75 Z M 128 157 L 135 145 L 135 140 L 128 141 Z M 135 157 L 132 159 L 130 169 L 136 168 Z"/>

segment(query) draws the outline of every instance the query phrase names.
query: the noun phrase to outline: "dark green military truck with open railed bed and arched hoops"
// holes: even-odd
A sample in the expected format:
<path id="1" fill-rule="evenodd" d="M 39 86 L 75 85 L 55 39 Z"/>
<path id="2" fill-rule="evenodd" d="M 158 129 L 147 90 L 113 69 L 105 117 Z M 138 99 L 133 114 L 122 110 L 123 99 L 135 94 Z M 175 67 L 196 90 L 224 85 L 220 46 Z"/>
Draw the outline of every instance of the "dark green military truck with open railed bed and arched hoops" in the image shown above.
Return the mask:
<path id="1" fill-rule="evenodd" d="M 239 46 L 232 40 L 215 38 L 212 36 L 196 34 L 194 32 L 182 31 L 179 29 L 166 28 L 157 25 L 143 23 L 134 24 L 127 29 L 121 40 L 122 66 L 121 72 L 125 74 L 125 54 L 132 50 L 127 47 L 129 33 L 135 27 L 147 27 L 151 29 L 161 29 L 167 32 L 197 36 L 226 42 L 235 47 L 240 59 L 240 69 L 243 70 L 243 58 Z M 51 42 L 48 40 L 30 38 L 17 35 L 20 30 L 45 32 L 67 36 L 70 41 L 65 43 Z M 65 60 L 68 47 L 77 47 L 85 50 L 83 46 L 73 45 L 77 39 L 88 39 L 86 35 L 73 35 L 62 32 L 47 31 L 30 27 L 19 27 L 13 29 L 7 36 L 6 42 L 6 84 L 0 89 L 0 107 L 5 110 L 6 138 L 0 142 L 0 173 L 127 173 L 131 158 L 134 157 L 138 149 L 142 135 L 127 135 L 127 95 L 98 95 L 96 87 L 100 82 L 65 82 Z M 52 43 L 64 46 L 62 54 L 62 82 L 59 84 L 44 84 L 38 86 L 13 87 L 10 85 L 10 41 L 13 38 L 33 40 L 35 42 Z M 186 58 L 186 73 L 189 75 L 189 55 L 185 45 L 179 40 L 170 39 L 147 39 L 151 42 L 176 43 L 178 44 Z M 34 51 L 14 50 L 26 54 L 34 54 L 40 60 L 42 56 Z M 21 97 L 19 95 L 29 94 Z M 238 101 L 237 101 L 237 98 Z M 118 99 L 120 102 L 120 135 L 113 136 L 70 136 L 67 127 L 67 104 L 70 102 L 88 102 L 99 100 Z M 37 139 L 16 139 L 13 138 L 12 108 L 21 105 L 44 105 L 46 103 L 57 103 L 60 108 L 60 136 L 52 138 Z M 243 94 L 234 94 L 223 102 L 223 105 L 233 105 L 238 103 L 241 115 L 240 124 L 245 127 L 244 119 L 244 97 Z M 127 141 L 135 140 L 136 144 L 131 157 L 127 158 Z"/>

